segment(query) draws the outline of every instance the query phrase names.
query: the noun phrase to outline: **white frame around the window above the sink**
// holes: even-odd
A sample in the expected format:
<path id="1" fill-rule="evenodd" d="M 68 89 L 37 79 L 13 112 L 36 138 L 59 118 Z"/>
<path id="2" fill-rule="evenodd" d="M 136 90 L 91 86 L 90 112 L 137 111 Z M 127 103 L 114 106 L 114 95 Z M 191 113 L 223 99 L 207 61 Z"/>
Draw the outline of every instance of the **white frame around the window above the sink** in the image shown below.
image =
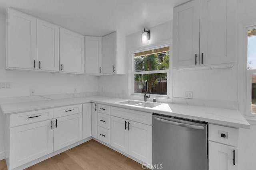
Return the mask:
<path id="1" fill-rule="evenodd" d="M 140 72 L 135 72 L 134 71 L 134 54 L 135 53 L 140 53 L 143 51 L 149 51 L 153 49 L 159 49 L 159 48 L 164 48 L 164 47 L 169 47 L 169 69 L 167 70 L 151 70 L 151 71 L 140 71 Z M 146 47 L 140 47 L 139 49 L 133 49 L 130 52 L 130 92 L 129 94 L 131 96 L 144 96 L 142 93 L 134 93 L 134 75 L 135 74 L 154 74 L 154 73 L 166 73 L 167 74 L 167 92 L 166 95 L 162 94 L 150 94 L 150 96 L 155 97 L 155 98 L 172 98 L 172 43 L 163 43 L 161 45 L 147 45 Z"/>

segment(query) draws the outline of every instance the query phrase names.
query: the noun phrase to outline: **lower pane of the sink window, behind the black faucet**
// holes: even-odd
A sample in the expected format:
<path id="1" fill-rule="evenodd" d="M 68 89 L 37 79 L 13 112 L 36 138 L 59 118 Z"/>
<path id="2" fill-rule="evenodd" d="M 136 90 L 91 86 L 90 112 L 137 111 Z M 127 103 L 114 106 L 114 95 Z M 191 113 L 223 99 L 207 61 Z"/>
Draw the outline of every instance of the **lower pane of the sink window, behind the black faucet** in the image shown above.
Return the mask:
<path id="1" fill-rule="evenodd" d="M 167 73 L 135 74 L 134 93 L 145 93 L 145 80 L 148 81 L 148 94 L 167 94 Z"/>

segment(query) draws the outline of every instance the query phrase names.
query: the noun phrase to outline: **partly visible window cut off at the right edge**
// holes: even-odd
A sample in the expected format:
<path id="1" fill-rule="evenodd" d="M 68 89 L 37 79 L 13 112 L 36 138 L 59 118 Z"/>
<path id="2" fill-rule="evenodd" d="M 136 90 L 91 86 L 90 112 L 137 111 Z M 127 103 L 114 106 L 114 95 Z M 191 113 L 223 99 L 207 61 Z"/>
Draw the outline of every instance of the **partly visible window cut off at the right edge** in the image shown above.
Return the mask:
<path id="1" fill-rule="evenodd" d="M 256 116 L 256 27 L 247 30 L 246 114 Z"/>

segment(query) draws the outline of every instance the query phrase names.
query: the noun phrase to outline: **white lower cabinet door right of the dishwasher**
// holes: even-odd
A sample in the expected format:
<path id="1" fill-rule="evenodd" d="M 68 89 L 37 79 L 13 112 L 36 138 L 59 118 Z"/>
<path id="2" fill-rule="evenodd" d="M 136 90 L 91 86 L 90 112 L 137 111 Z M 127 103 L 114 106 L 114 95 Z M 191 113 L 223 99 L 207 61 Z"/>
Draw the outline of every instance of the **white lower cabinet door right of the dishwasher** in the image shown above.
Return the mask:
<path id="1" fill-rule="evenodd" d="M 238 149 L 209 141 L 209 170 L 238 170 Z"/>

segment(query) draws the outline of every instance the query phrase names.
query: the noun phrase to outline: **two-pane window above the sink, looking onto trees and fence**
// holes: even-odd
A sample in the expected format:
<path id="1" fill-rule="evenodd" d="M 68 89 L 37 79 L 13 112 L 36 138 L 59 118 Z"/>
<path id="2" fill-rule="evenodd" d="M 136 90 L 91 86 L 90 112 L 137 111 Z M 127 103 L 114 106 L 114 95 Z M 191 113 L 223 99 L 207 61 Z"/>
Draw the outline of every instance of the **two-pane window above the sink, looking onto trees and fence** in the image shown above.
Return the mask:
<path id="1" fill-rule="evenodd" d="M 148 94 L 168 96 L 170 47 L 132 53 L 132 94 L 144 94 L 145 80 Z"/>

